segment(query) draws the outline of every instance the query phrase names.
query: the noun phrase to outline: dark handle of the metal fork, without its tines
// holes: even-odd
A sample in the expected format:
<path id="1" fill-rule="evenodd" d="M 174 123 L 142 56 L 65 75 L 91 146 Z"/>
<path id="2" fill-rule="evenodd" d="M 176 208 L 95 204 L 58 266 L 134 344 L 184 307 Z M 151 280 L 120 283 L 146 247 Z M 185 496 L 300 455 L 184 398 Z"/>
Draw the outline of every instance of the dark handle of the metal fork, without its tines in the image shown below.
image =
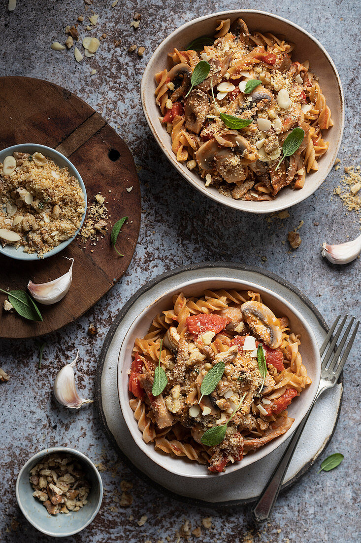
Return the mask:
<path id="1" fill-rule="evenodd" d="M 316 396 L 316 398 L 317 397 L 318 395 Z M 272 511 L 272 508 L 278 498 L 283 477 L 285 477 L 285 473 L 287 471 L 288 465 L 291 462 L 291 458 L 293 456 L 294 450 L 301 437 L 301 433 L 304 430 L 308 416 L 310 416 L 310 413 L 312 411 L 316 398 L 312 402 L 312 405 L 310 409 L 308 410 L 308 412 L 306 413 L 305 418 L 300 422 L 297 430 L 294 432 L 291 438 L 291 441 L 289 441 L 289 444 L 287 445 L 285 452 L 282 454 L 282 457 L 279 463 L 277 464 L 274 472 L 268 479 L 268 482 L 265 488 L 263 489 L 262 494 L 259 497 L 259 500 L 257 500 L 256 504 L 251 509 L 251 515 L 254 522 L 257 522 L 257 523 L 264 522 L 265 520 L 268 519 L 270 512 Z"/>

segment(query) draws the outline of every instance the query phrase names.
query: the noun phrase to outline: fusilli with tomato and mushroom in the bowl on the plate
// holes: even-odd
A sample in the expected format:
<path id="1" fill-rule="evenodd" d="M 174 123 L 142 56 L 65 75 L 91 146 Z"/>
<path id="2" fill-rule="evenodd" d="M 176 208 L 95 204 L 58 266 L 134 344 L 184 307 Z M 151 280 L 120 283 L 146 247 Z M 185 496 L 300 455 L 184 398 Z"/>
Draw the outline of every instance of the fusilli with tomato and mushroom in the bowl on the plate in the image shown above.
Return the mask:
<path id="1" fill-rule="evenodd" d="M 267 366 L 263 386 L 259 344 Z M 173 296 L 172 307 L 153 319 L 133 348 L 130 407 L 144 441 L 219 472 L 287 432 L 294 419 L 286 407 L 311 383 L 300 344 L 287 317 L 276 317 L 259 293 L 222 289 L 201 298 Z M 153 396 L 159 355 L 167 383 Z M 220 380 L 201 397 L 204 376 L 220 361 Z M 232 415 L 223 441 L 204 445 L 204 432 Z"/>

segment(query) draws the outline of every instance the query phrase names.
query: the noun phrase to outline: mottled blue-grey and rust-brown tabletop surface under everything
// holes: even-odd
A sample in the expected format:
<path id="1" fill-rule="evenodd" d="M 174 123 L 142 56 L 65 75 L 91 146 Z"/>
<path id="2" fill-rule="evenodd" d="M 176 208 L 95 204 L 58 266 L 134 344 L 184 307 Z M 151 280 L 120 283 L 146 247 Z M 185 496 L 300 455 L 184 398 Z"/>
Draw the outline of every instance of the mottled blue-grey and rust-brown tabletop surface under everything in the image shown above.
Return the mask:
<path id="1" fill-rule="evenodd" d="M 359 260 L 337 268 L 320 257 L 320 244 L 325 238 L 341 242 L 347 235 L 355 237 L 359 230 L 357 218 L 345 211 L 341 201 L 333 197 L 342 168 L 332 171 L 323 186 L 308 200 L 289 210 L 290 217 L 269 224 L 264 216 L 250 216 L 227 211 L 192 190 L 172 171 L 160 155 L 143 118 L 139 99 L 141 74 L 152 50 L 177 26 L 205 12 L 240 7 L 234 2 L 179 2 L 169 0 L 144 4 L 112 0 L 96 1 L 99 14 L 94 35 L 103 32 L 94 59 L 76 64 L 73 51 L 53 52 L 50 43 L 62 41 L 63 28 L 85 15 L 82 0 L 26 2 L 18 0 L 9 14 L 1 3 L 0 54 L 2 75 L 27 75 L 53 81 L 85 99 L 109 119 L 111 125 L 130 146 L 137 165 L 143 195 L 143 214 L 139 243 L 127 273 L 99 304 L 74 325 L 46 338 L 44 362 L 37 369 L 34 340 L 2 341 L 1 366 L 11 379 L 1 388 L 1 516 L 0 539 L 14 543 L 49 541 L 22 517 L 15 500 L 15 480 L 25 460 L 49 445 L 69 445 L 101 463 L 105 497 L 95 521 L 82 533 L 67 541 L 111 543 L 132 541 L 144 543 L 158 539 L 177 541 L 177 532 L 185 519 L 191 529 L 201 525 L 205 516 L 212 517 L 212 528 L 202 527 L 205 543 L 298 542 L 298 541 L 359 541 L 358 469 L 355 428 L 359 424 L 358 378 L 360 343 L 352 351 L 345 369 L 345 393 L 340 420 L 327 453 L 342 452 L 343 464 L 330 473 L 317 475 L 315 465 L 287 493 L 280 496 L 272 519 L 259 532 L 249 521 L 249 508 L 227 512 L 202 510 L 165 498 L 158 491 L 132 475 L 117 460 L 101 431 L 94 405 L 79 412 L 70 412 L 56 405 L 51 394 L 56 372 L 80 349 L 76 380 L 85 396 L 94 393 L 94 376 L 105 334 L 114 315 L 125 301 L 151 277 L 181 264 L 195 261 L 233 260 L 264 267 L 285 277 L 309 296 L 324 314 L 328 323 L 338 313 L 359 316 Z M 315 35 L 331 54 L 344 85 L 346 122 L 340 159 L 343 165 L 357 164 L 359 159 L 360 96 L 359 42 L 357 19 L 359 2 L 352 0 L 305 0 L 304 2 L 243 2 L 242 8 L 273 11 L 289 18 Z M 131 28 L 134 11 L 142 15 L 138 30 Z M 89 14 L 89 13 L 88 13 Z M 87 14 L 87 15 L 88 15 Z M 80 25 L 83 28 L 83 24 Z M 88 34 L 81 30 L 81 35 Z M 115 48 L 113 40 L 120 39 Z M 131 43 L 144 45 L 142 59 L 129 55 Z M 97 73 L 89 76 L 91 68 Z M 1 90 L 0 90 L 1 94 Z M 0 96 L 1 98 L 1 96 Z M 287 232 L 298 225 L 301 247 L 288 252 Z M 317 226 L 314 223 L 319 223 Z M 262 256 L 267 261 L 261 260 Z M 76 263 L 75 263 L 76 265 Z M 2 287 L 6 278 L 1 278 Z M 1 323 L 1 321 L 0 321 Z M 89 323 L 98 326 L 97 336 L 86 334 Z M 1 325 L 1 324 L 0 324 Z M 359 338 L 358 338 L 359 339 Z M 134 482 L 133 505 L 119 507 L 121 479 Z M 144 526 L 137 521 L 147 515 Z M 181 534 L 182 535 L 182 534 Z M 183 540 L 183 539 L 181 539 Z M 196 541 L 191 535 L 190 541 Z"/>

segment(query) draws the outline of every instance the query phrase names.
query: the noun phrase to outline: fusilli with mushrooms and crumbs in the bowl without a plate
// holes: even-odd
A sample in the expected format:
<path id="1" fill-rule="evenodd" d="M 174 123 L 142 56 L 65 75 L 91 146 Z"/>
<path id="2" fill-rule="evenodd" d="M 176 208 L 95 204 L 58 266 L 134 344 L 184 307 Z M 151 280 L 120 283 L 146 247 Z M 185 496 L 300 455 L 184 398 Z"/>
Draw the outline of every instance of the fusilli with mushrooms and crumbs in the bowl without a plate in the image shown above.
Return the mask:
<path id="1" fill-rule="evenodd" d="M 240 18 L 217 23 L 213 45 L 199 52 L 175 48 L 169 53 L 173 67 L 155 76 L 160 122 L 177 161 L 206 187 L 235 199 L 272 200 L 285 186 L 302 188 L 328 148 L 321 130 L 333 125 L 317 75 L 308 61 L 291 60 L 293 44 L 283 37 L 249 33 Z M 201 60 L 210 72 L 187 97 Z M 246 91 L 247 81 L 255 80 L 254 90 Z M 230 129 L 221 113 L 252 123 Z M 283 142 L 296 127 L 304 130 L 304 140 L 278 166 Z"/>

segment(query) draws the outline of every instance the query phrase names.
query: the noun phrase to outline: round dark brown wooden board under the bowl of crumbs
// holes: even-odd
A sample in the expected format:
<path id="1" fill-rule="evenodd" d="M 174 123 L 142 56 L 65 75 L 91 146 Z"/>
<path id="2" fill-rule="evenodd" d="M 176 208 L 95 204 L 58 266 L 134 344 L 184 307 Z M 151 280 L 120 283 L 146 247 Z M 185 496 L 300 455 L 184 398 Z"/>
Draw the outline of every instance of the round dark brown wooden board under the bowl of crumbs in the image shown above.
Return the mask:
<path id="1" fill-rule="evenodd" d="M 139 235 L 139 180 L 125 142 L 91 106 L 62 87 L 28 77 L 0 77 L 0 118 L 1 149 L 40 143 L 60 151 L 82 176 L 88 207 L 100 192 L 110 216 L 107 235 L 95 245 L 90 239 L 81 242 L 78 236 L 59 254 L 37 261 L 0 255 L 0 287 L 10 290 L 25 290 L 30 279 L 35 283 L 56 279 L 69 269 L 64 257 L 74 258 L 72 287 L 59 303 L 41 306 L 42 322 L 0 312 L 0 337 L 36 337 L 80 317 L 124 274 Z M 132 191 L 127 192 L 131 186 Z M 113 224 L 125 215 L 129 220 L 119 236 L 124 254 L 120 257 L 109 239 Z M 1 305 L 4 299 L 0 296 Z"/>

